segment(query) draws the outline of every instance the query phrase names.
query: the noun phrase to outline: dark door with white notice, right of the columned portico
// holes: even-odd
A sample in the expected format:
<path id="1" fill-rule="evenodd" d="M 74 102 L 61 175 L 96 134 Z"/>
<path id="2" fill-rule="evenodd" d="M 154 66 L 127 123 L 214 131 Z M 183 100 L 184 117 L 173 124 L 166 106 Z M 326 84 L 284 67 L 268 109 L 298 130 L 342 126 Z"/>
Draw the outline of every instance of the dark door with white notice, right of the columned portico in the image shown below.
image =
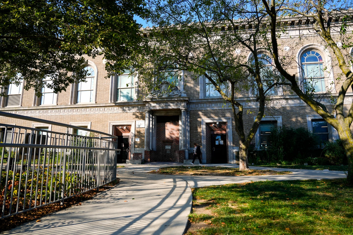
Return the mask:
<path id="1" fill-rule="evenodd" d="M 211 163 L 227 163 L 226 134 L 211 134 Z"/>

